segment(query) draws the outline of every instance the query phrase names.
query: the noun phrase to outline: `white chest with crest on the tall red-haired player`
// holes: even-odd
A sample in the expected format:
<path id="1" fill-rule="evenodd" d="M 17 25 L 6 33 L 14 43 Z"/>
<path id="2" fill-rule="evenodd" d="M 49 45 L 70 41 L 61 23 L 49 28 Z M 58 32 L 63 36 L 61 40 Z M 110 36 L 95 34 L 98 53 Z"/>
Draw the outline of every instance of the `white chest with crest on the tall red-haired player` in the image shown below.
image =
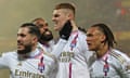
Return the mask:
<path id="1" fill-rule="evenodd" d="M 63 51 L 60 54 L 60 62 L 82 62 L 84 61 L 84 49 L 87 48 L 86 38 L 80 34 L 70 36 L 68 42 L 65 44 Z"/>

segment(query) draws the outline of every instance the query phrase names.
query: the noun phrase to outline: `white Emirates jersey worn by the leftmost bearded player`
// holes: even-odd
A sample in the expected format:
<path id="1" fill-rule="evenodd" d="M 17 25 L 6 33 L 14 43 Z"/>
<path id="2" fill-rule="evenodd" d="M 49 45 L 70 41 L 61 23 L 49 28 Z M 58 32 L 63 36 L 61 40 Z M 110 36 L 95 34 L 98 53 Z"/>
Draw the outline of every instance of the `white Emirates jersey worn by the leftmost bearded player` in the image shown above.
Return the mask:
<path id="1" fill-rule="evenodd" d="M 62 40 L 57 43 L 60 49 L 54 51 L 61 52 L 61 46 L 66 41 Z M 53 52 L 54 52 L 53 51 Z M 29 56 L 21 56 L 16 51 L 5 52 L 0 56 L 0 69 L 10 69 L 10 78 L 55 78 L 57 70 L 57 61 L 54 55 L 43 52 L 38 44 Z"/>

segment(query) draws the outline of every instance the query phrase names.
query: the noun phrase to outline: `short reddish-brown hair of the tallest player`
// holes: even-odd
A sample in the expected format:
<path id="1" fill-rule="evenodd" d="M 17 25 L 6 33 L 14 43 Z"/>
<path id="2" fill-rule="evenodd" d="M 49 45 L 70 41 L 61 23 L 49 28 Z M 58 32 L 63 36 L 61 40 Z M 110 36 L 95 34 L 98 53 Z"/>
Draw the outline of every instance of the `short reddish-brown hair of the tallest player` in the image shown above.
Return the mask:
<path id="1" fill-rule="evenodd" d="M 58 10 L 58 9 L 69 9 L 69 10 L 73 11 L 74 14 L 76 13 L 76 9 L 75 9 L 75 5 L 73 3 L 60 3 L 60 4 L 56 4 L 54 10 Z"/>

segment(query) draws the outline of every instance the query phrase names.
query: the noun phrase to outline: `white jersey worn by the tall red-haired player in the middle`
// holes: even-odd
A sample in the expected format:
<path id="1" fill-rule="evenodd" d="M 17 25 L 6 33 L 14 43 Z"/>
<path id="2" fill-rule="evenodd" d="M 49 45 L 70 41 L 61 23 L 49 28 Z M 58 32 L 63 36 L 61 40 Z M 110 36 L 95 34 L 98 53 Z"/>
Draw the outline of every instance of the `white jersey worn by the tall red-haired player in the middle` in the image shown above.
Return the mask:
<path id="1" fill-rule="evenodd" d="M 73 31 L 61 53 L 53 53 L 58 58 L 56 78 L 89 78 L 84 53 L 88 52 L 86 35 L 79 30 Z"/>

